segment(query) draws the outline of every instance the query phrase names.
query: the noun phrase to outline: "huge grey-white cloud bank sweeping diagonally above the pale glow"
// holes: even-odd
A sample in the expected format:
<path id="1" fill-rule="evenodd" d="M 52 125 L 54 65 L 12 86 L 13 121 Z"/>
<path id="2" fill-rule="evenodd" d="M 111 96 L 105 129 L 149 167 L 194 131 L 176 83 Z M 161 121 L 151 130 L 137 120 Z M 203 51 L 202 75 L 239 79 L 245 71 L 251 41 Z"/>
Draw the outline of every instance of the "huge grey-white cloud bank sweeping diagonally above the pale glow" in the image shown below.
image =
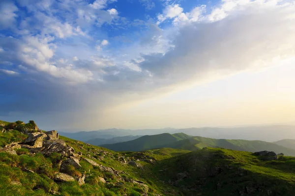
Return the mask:
<path id="1" fill-rule="evenodd" d="M 113 1 L 34 2 L 21 4 L 30 14 L 18 16 L 18 30 L 0 35 L 0 116 L 83 127 L 114 105 L 295 55 L 294 3 L 226 0 L 211 12 L 167 4 L 143 29 L 116 40 L 102 31 L 120 23 L 108 11 Z M 166 21 L 172 25 L 162 27 Z"/>

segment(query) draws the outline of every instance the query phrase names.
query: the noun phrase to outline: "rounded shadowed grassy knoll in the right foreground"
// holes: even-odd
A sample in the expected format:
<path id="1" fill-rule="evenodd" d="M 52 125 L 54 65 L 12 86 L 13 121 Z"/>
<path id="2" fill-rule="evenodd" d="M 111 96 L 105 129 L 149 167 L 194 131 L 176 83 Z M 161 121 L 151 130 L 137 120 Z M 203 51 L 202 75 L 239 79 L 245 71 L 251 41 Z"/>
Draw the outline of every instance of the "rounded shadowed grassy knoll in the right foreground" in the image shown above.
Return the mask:
<path id="1" fill-rule="evenodd" d="M 220 173 L 214 173 L 220 169 Z M 295 157 L 263 161 L 251 152 L 207 148 L 163 160 L 154 172 L 161 172 L 165 182 L 177 180 L 176 173 L 189 177 L 177 186 L 195 192 L 185 196 L 238 196 L 247 189 L 247 196 L 291 196 L 295 191 Z"/>

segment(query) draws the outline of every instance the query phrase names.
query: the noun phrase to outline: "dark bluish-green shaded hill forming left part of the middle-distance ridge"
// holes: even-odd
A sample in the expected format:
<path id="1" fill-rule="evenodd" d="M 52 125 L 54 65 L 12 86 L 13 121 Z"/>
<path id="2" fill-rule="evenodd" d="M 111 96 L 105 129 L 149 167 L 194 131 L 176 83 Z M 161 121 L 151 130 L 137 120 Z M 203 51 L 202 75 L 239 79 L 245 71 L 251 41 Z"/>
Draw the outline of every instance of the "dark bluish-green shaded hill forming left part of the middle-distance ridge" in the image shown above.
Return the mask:
<path id="1" fill-rule="evenodd" d="M 171 147 L 171 144 L 175 144 L 177 141 L 190 137 L 191 136 L 184 133 L 162 133 L 159 135 L 145 135 L 128 142 L 101 145 L 101 147 L 106 147 L 115 151 L 143 151 L 153 148 Z"/>

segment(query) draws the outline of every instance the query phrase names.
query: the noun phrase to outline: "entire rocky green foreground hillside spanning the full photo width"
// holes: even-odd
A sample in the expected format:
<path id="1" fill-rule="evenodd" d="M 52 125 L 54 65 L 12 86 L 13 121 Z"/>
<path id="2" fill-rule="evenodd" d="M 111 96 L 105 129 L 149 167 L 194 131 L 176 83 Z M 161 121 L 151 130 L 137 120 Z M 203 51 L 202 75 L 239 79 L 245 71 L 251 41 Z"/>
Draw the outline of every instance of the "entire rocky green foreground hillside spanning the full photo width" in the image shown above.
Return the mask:
<path id="1" fill-rule="evenodd" d="M 295 191 L 295 157 L 274 152 L 115 152 L 42 131 L 33 122 L 1 123 L 0 130 L 1 196 L 291 196 Z M 159 138 L 189 137 L 168 135 Z"/>

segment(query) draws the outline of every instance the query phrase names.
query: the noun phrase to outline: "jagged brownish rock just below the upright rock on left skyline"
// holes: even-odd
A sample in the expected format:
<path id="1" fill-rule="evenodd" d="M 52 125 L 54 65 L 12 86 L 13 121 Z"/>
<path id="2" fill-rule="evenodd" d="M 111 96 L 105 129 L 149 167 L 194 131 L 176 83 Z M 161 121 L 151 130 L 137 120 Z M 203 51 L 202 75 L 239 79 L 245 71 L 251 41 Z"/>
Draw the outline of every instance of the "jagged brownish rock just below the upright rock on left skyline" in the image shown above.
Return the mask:
<path id="1" fill-rule="evenodd" d="M 41 153 L 44 155 L 50 155 L 54 152 L 61 153 L 66 156 L 66 152 L 68 151 L 67 146 L 63 140 L 55 139 L 55 140 L 47 140 L 44 142 L 43 149 Z"/>

